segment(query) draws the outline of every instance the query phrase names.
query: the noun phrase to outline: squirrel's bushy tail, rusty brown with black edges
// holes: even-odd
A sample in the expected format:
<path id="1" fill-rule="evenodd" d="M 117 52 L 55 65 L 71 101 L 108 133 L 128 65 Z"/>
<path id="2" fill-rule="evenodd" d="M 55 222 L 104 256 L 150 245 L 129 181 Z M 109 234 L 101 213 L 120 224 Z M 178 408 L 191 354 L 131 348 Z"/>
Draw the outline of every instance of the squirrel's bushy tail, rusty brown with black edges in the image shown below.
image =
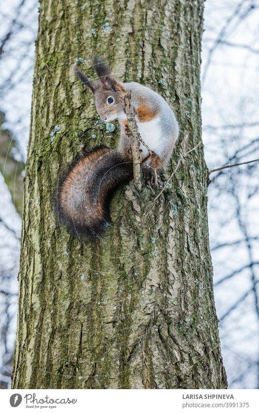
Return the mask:
<path id="1" fill-rule="evenodd" d="M 121 184 L 132 179 L 131 162 L 100 146 L 75 162 L 58 182 L 55 209 L 69 233 L 98 236 L 109 220 L 109 201 Z"/>

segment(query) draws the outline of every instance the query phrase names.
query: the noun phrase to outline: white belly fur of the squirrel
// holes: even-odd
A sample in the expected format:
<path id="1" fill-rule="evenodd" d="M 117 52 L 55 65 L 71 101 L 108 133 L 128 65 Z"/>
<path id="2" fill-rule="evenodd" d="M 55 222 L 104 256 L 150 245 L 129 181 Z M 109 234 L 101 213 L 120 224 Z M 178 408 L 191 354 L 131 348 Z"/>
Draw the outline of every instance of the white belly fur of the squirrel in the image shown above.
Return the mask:
<path id="1" fill-rule="evenodd" d="M 157 153 L 159 142 L 161 144 L 162 132 L 159 126 L 159 117 L 152 119 L 150 122 L 138 122 L 138 132 L 148 147 Z M 140 142 L 139 149 L 142 150 L 142 158 L 146 158 L 149 153 L 147 148 Z"/>

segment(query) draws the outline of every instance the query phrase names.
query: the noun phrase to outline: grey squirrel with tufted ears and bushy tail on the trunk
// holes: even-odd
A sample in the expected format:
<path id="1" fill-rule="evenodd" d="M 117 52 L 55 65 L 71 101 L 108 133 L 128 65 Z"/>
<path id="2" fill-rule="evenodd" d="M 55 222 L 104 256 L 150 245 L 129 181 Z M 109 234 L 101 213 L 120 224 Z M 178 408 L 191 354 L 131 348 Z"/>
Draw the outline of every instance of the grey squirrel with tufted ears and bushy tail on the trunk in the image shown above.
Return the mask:
<path id="1" fill-rule="evenodd" d="M 117 150 L 99 146 L 74 162 L 57 185 L 56 213 L 72 235 L 98 237 L 109 220 L 109 201 L 122 183 L 133 178 L 130 139 L 124 96 L 131 91 L 131 104 L 142 142 L 141 162 L 154 169 L 165 168 L 179 135 L 179 126 L 165 99 L 154 90 L 136 82 L 122 83 L 97 56 L 93 67 L 98 81 L 90 80 L 75 66 L 75 73 L 94 97 L 98 114 L 104 122 L 119 120 L 121 138 Z"/>

